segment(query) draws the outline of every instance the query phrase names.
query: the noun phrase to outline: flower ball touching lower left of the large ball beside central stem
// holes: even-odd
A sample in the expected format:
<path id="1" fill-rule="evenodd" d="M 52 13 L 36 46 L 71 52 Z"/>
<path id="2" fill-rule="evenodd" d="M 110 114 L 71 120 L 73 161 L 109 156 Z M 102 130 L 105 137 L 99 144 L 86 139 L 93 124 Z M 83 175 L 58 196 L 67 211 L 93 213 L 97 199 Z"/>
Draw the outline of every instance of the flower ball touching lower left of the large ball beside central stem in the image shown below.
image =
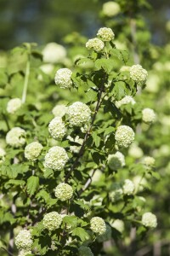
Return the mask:
<path id="1" fill-rule="evenodd" d="M 49 123 L 48 131 L 54 139 L 61 140 L 66 133 L 65 123 L 62 121 L 60 117 L 55 117 Z"/>

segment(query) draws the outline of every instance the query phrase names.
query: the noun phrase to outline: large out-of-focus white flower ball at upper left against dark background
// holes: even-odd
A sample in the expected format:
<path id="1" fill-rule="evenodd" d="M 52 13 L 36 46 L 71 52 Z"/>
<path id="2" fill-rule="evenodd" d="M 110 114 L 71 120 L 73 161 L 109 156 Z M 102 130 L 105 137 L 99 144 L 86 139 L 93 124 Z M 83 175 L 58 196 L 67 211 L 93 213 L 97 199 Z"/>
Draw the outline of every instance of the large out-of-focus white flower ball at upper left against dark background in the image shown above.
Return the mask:
<path id="1" fill-rule="evenodd" d="M 66 50 L 60 44 L 49 43 L 42 50 L 43 61 L 49 63 L 56 63 L 63 61 L 66 57 Z"/>

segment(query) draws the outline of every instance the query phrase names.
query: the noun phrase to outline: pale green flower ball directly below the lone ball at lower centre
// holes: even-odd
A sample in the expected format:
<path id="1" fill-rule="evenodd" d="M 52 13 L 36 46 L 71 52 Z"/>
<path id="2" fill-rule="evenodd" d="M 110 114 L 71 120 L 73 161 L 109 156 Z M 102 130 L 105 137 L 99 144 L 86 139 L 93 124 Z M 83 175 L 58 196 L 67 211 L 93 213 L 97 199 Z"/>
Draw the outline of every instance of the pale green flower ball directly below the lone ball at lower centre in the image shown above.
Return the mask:
<path id="1" fill-rule="evenodd" d="M 58 212 L 49 212 L 43 217 L 43 225 L 49 231 L 57 230 L 62 220 L 63 216 Z"/>

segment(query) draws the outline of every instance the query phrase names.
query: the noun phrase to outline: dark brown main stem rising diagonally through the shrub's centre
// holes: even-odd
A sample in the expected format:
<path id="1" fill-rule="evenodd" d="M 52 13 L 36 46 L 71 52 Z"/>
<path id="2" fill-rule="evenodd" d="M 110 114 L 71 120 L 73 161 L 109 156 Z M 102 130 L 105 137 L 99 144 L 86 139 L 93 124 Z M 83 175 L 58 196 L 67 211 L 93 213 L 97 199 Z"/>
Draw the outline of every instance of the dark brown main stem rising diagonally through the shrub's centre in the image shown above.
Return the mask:
<path id="1" fill-rule="evenodd" d="M 102 101 L 101 101 L 101 96 L 102 96 L 103 90 L 104 90 L 104 85 L 102 84 L 102 86 L 101 86 L 101 88 L 100 88 L 100 90 L 99 90 L 98 102 L 97 102 L 97 105 L 96 105 L 96 108 L 95 108 L 95 111 L 94 111 L 94 116 L 93 116 L 93 118 L 92 118 L 91 125 L 89 126 L 88 130 L 86 131 L 86 134 L 85 134 L 85 137 L 84 137 L 82 146 L 81 146 L 80 151 L 79 151 L 79 153 L 78 153 L 78 155 L 77 155 L 77 159 L 75 160 L 74 164 L 72 165 L 71 170 L 70 170 L 70 171 L 67 173 L 67 175 L 65 176 L 65 183 L 67 183 L 69 177 L 71 176 L 71 173 L 74 171 L 75 167 L 76 167 L 77 164 L 78 164 L 79 159 L 81 158 L 81 156 L 82 156 L 82 154 L 83 154 L 83 152 L 84 152 L 84 148 L 85 148 L 85 146 L 86 146 L 86 142 L 87 142 L 87 140 L 88 140 L 88 137 L 89 137 L 89 135 L 90 135 L 90 131 L 91 131 L 93 125 L 94 125 L 94 120 L 95 120 L 95 118 L 96 118 L 96 115 L 97 115 L 97 113 L 98 113 L 98 111 L 99 111 L 99 107 L 100 107 L 101 102 L 102 102 Z"/>

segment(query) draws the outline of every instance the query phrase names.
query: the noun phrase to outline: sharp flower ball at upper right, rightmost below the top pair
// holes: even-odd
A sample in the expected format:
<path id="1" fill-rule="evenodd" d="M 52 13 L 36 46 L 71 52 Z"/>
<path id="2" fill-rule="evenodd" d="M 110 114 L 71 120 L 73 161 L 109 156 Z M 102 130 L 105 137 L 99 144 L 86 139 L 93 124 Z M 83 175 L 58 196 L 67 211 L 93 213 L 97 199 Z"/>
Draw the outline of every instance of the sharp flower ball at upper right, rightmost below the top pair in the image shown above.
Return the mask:
<path id="1" fill-rule="evenodd" d="M 146 79 L 148 77 L 147 71 L 139 64 L 133 65 L 130 68 L 130 78 L 133 79 L 133 81 L 142 86 L 145 84 Z"/>

